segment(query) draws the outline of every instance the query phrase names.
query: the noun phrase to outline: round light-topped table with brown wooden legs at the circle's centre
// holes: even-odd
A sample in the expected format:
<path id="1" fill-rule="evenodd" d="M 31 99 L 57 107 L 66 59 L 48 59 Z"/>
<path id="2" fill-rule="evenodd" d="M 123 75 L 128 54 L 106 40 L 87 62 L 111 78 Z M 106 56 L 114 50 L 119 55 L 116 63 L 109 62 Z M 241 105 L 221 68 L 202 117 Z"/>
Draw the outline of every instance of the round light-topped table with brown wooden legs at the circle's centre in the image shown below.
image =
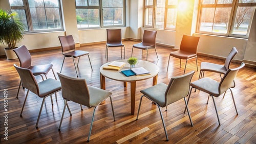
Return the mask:
<path id="1" fill-rule="evenodd" d="M 127 60 L 116 60 L 116 61 L 126 62 L 126 64 L 120 70 L 108 70 L 108 69 L 102 68 L 105 65 L 109 65 L 111 62 L 105 63 L 100 67 L 100 88 L 105 89 L 105 78 L 109 78 L 109 79 L 112 79 L 115 81 L 121 81 L 121 82 L 123 82 L 124 87 L 127 86 L 127 82 L 130 82 L 131 83 L 131 114 L 134 114 L 136 82 L 153 78 L 153 85 L 156 85 L 157 84 L 157 76 L 159 73 L 159 67 L 152 62 L 138 60 L 139 63 L 136 64 L 135 68 L 136 67 L 144 67 L 146 70 L 150 71 L 151 75 L 126 77 L 121 73 L 121 71 L 130 69 L 130 64 L 127 63 Z"/>

